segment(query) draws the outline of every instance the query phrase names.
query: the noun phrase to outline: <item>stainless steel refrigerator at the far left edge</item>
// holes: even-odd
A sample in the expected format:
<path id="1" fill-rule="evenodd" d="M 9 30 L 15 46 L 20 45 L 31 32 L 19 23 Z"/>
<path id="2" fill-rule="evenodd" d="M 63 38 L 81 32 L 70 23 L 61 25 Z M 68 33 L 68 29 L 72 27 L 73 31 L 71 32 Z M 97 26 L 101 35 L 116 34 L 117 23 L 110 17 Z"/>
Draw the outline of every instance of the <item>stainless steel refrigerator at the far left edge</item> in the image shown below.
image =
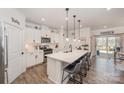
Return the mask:
<path id="1" fill-rule="evenodd" d="M 0 22 L 0 84 L 7 83 L 6 76 L 8 75 L 6 68 L 7 63 L 7 38 L 4 35 L 4 25 Z"/>

